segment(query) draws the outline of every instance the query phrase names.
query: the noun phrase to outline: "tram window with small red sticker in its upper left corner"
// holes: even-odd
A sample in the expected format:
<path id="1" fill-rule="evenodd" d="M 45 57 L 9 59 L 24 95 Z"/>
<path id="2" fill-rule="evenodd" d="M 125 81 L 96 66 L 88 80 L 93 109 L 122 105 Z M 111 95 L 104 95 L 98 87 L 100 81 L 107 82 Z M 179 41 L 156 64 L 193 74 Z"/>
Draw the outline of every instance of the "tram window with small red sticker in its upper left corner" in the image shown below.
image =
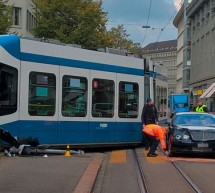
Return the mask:
<path id="1" fill-rule="evenodd" d="M 92 116 L 114 116 L 114 81 L 105 79 L 93 79 L 92 82 Z"/>

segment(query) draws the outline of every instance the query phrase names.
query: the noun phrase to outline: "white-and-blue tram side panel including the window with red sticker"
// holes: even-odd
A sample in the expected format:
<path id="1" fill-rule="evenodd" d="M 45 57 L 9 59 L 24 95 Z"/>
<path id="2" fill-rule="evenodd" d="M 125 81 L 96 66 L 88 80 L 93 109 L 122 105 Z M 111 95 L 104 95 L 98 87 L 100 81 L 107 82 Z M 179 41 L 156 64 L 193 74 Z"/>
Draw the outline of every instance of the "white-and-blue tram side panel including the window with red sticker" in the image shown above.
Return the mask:
<path id="1" fill-rule="evenodd" d="M 90 71 L 91 143 L 114 142 L 116 120 L 116 73 Z"/>

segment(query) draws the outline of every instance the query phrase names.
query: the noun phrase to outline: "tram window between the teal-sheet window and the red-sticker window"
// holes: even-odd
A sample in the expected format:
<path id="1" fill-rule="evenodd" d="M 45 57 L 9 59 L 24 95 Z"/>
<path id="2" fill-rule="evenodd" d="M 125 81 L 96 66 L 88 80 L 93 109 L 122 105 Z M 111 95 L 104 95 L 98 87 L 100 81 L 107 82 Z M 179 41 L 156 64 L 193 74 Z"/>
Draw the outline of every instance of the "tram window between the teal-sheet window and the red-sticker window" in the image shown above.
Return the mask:
<path id="1" fill-rule="evenodd" d="M 85 117 L 87 115 L 86 78 L 63 77 L 62 115 L 65 117 Z"/>

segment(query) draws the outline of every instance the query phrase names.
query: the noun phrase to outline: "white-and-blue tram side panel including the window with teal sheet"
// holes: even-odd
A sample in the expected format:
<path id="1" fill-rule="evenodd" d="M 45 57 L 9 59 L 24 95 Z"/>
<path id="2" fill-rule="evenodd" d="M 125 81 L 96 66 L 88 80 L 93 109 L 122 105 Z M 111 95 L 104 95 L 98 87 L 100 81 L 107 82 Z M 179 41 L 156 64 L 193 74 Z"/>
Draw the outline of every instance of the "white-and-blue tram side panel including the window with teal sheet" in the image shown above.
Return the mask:
<path id="1" fill-rule="evenodd" d="M 57 66 L 22 61 L 19 136 L 56 144 L 58 74 Z"/>

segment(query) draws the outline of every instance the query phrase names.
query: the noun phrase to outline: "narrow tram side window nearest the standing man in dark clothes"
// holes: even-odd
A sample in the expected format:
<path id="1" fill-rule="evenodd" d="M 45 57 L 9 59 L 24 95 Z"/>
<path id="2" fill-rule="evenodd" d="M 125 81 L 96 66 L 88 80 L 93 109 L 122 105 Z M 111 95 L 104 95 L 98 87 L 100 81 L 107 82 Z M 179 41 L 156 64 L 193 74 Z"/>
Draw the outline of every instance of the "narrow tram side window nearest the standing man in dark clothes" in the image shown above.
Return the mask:
<path id="1" fill-rule="evenodd" d="M 132 82 L 119 82 L 119 117 L 137 118 L 139 86 Z"/>

